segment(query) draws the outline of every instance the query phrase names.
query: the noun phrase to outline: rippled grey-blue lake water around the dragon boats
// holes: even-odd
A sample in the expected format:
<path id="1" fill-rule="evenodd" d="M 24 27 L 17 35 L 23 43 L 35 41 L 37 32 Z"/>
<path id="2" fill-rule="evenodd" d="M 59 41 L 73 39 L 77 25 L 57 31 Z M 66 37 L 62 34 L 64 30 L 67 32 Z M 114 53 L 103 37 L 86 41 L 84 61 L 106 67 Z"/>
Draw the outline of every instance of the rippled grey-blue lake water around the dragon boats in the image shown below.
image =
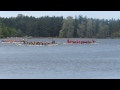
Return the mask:
<path id="1" fill-rule="evenodd" d="M 67 41 L 65 38 L 54 40 Z M 120 39 L 95 41 L 96 44 L 57 46 L 17 46 L 0 42 L 0 79 L 120 79 Z"/>

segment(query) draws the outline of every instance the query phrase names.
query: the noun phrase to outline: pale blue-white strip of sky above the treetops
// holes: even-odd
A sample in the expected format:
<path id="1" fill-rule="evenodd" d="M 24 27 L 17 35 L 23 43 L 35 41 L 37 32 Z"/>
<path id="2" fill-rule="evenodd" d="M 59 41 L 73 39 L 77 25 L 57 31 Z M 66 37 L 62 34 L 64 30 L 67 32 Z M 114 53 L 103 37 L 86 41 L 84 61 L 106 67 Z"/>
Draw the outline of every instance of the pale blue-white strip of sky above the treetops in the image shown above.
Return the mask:
<path id="1" fill-rule="evenodd" d="M 120 19 L 120 11 L 0 11 L 0 17 L 16 17 L 18 14 L 25 16 L 87 16 L 87 18 L 98 19 Z"/>

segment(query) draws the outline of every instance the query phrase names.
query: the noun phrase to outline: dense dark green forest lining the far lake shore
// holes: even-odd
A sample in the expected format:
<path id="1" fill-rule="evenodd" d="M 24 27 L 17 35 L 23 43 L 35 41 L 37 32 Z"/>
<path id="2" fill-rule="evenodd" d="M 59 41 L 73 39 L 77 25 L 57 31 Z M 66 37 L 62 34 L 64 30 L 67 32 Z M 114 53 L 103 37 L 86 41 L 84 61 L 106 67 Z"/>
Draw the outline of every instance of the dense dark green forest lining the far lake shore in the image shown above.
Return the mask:
<path id="1" fill-rule="evenodd" d="M 82 15 L 67 18 L 35 18 L 18 14 L 0 17 L 0 38 L 5 37 L 114 38 L 120 37 L 120 20 L 93 19 Z"/>

